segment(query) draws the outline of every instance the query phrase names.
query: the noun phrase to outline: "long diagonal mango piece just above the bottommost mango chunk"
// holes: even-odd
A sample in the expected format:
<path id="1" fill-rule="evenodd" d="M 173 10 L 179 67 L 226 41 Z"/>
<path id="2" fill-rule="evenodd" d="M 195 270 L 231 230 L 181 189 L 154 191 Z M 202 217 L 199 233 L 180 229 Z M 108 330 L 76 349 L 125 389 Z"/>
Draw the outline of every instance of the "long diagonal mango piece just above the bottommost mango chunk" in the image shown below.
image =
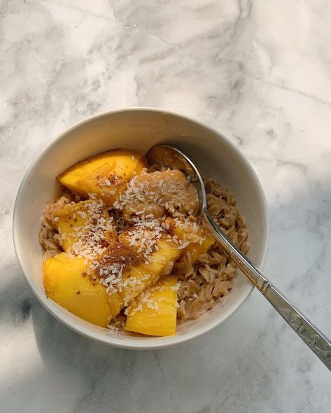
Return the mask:
<path id="1" fill-rule="evenodd" d="M 181 254 L 178 244 L 163 240 L 157 241 L 158 251 L 150 253 L 149 262 L 129 266 L 122 274 L 121 288 L 108 293 L 111 318 L 117 316 L 122 308 L 139 295 L 148 286 L 155 283 L 160 276 L 169 274 L 174 262 Z M 106 251 L 107 253 L 107 251 Z"/>

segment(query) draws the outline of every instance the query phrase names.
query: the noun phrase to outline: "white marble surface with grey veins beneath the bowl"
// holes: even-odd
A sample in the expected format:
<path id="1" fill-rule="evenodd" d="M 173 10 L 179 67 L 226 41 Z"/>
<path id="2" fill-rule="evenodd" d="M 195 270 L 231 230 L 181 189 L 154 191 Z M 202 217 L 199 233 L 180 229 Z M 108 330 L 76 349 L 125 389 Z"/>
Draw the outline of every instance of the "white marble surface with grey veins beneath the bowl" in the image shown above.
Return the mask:
<path id="1" fill-rule="evenodd" d="M 11 241 L 56 134 L 122 106 L 178 111 L 251 161 L 265 272 L 331 336 L 330 18 L 328 0 L 0 0 L 1 412 L 330 412 L 330 372 L 258 292 L 188 344 L 113 349 L 41 308 Z"/>

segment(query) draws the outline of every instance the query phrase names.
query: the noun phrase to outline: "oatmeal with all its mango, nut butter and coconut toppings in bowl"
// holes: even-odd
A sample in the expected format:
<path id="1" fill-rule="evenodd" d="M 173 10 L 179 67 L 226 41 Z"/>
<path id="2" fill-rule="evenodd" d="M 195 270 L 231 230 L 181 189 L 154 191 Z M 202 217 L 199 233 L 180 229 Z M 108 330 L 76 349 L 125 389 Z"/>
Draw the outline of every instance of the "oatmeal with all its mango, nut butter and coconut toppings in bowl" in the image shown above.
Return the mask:
<path id="1" fill-rule="evenodd" d="M 196 216 L 197 190 L 183 172 L 158 171 L 139 153 L 115 150 L 57 181 L 39 237 L 44 285 L 73 314 L 113 332 L 171 335 L 233 288 L 235 262 Z M 214 221 L 247 253 L 233 195 L 216 181 L 205 184 Z"/>

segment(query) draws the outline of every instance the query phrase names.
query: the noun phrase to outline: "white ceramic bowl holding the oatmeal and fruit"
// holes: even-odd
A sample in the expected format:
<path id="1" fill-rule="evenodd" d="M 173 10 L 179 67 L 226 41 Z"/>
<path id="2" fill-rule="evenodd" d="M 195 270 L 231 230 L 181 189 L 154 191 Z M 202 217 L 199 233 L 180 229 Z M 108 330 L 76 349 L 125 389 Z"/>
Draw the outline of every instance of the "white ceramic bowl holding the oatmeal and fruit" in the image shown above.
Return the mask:
<path id="1" fill-rule="evenodd" d="M 176 146 L 195 162 L 203 176 L 216 178 L 230 188 L 248 223 L 251 242 L 248 255 L 262 268 L 269 240 L 268 212 L 265 195 L 251 165 L 223 134 L 195 120 L 159 109 L 111 111 L 66 130 L 29 167 L 17 193 L 13 216 L 18 262 L 45 309 L 85 337 L 127 349 L 156 349 L 202 335 L 234 314 L 253 290 L 245 276 L 239 274 L 237 284 L 225 302 L 216 305 L 198 320 L 180 325 L 172 337 L 137 337 L 130 333 L 116 335 L 111 330 L 83 321 L 45 296 L 38 232 L 45 203 L 54 198 L 55 176 L 79 160 L 97 153 L 114 148 L 146 153 L 156 144 Z"/>

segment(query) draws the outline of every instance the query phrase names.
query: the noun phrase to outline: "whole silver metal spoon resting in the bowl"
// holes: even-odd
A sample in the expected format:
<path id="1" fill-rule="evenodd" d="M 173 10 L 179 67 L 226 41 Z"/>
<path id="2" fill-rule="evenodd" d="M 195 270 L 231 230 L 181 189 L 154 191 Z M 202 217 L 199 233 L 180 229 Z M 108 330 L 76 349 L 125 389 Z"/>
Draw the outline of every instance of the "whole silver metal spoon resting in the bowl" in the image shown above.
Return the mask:
<path id="1" fill-rule="evenodd" d="M 150 164 L 179 169 L 190 176 L 190 181 L 195 183 L 199 194 L 200 207 L 198 213 L 202 221 L 212 232 L 213 237 L 223 246 L 225 252 L 237 262 L 238 267 L 246 275 L 258 290 L 267 298 L 274 308 L 281 314 L 284 320 L 295 330 L 302 340 L 314 351 L 316 356 L 331 370 L 331 342 L 318 330 L 298 309 L 294 307 L 283 294 L 255 267 L 253 262 L 232 244 L 222 230 L 216 225 L 209 214 L 206 201 L 206 190 L 202 176 L 193 162 L 181 151 L 171 146 L 155 146 L 147 153 Z"/>

